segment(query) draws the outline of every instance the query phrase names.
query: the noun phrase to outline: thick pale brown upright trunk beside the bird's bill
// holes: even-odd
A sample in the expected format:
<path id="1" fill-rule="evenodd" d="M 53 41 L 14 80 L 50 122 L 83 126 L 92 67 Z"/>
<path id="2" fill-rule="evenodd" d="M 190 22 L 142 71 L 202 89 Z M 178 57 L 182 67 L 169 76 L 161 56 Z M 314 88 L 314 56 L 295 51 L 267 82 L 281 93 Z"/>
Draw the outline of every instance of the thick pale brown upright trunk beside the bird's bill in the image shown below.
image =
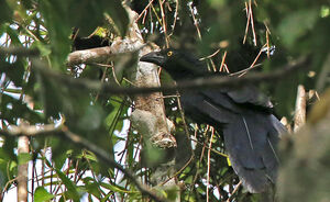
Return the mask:
<path id="1" fill-rule="evenodd" d="M 160 1 L 161 3 L 161 1 Z M 162 8 L 162 4 L 161 4 Z M 138 14 L 133 11 L 131 11 L 128 8 L 128 12 L 131 19 L 131 29 L 129 33 L 129 38 L 131 42 L 131 45 L 133 48 L 131 49 L 139 49 L 139 56 L 145 55 L 150 52 L 153 52 L 155 49 L 158 49 L 157 46 L 154 44 L 151 44 L 146 46 L 146 43 L 144 43 L 143 37 L 141 35 L 140 29 L 138 24 L 135 23 L 135 20 Z M 164 13 L 162 12 L 162 16 Z M 165 19 L 163 19 L 162 22 L 164 29 L 166 27 Z M 166 32 L 166 30 L 164 30 Z M 165 37 L 166 34 L 165 34 Z M 113 45 L 111 45 L 113 46 Z M 127 44 L 118 46 L 122 52 L 124 52 L 127 48 Z M 128 50 L 131 50 L 128 49 Z M 130 79 L 135 83 L 136 87 L 160 87 L 161 80 L 157 75 L 157 67 L 154 64 L 151 63 L 143 63 L 138 61 L 136 71 L 134 74 L 130 75 Z M 101 91 L 102 92 L 102 91 Z M 148 136 L 147 138 L 144 138 L 145 141 L 151 142 L 156 147 L 162 148 L 169 148 L 176 146 L 175 137 L 169 133 L 168 125 L 167 125 L 167 119 L 165 114 L 165 106 L 164 106 L 164 100 L 157 99 L 160 97 L 163 97 L 162 92 L 154 92 L 148 93 L 146 96 L 136 96 L 134 97 L 134 103 L 135 109 L 150 112 L 152 116 L 155 117 L 156 124 L 152 132 L 148 133 L 148 135 L 144 134 L 144 136 Z M 145 120 L 147 122 L 147 120 Z M 134 122 L 132 122 L 134 124 Z M 143 133 L 142 133 L 143 134 Z"/>

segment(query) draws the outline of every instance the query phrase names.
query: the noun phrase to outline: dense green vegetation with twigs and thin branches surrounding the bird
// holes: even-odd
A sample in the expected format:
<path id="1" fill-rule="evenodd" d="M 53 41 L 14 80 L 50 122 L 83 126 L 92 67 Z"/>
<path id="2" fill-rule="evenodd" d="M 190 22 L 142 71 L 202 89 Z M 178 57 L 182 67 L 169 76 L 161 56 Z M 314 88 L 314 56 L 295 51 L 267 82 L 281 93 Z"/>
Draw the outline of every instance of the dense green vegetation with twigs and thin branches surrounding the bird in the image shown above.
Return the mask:
<path id="1" fill-rule="evenodd" d="M 120 0 L 0 2 L 0 200 L 11 201 L 8 193 L 24 184 L 25 165 L 30 167 L 26 189 L 34 201 L 257 201 L 258 194 L 238 186 L 221 134 L 185 121 L 173 91 L 164 91 L 164 105 L 176 126 L 172 135 L 177 148 L 160 149 L 145 132 L 132 126 L 131 113 L 143 105 L 145 96 L 134 93 L 140 48 L 121 52 L 114 44 L 134 37 L 132 29 L 138 25 L 144 42 L 191 50 L 207 59 L 210 70 L 240 71 L 242 77 L 256 72 L 277 116 L 293 125 L 298 85 L 317 92 L 307 102 L 307 114 L 329 87 L 329 1 L 131 0 L 124 4 Z M 130 10 L 139 18 L 133 19 Z M 112 53 L 106 58 L 100 54 L 87 63 L 69 57 L 109 46 Z M 285 77 L 276 77 L 274 72 L 282 70 Z M 160 72 L 162 85 L 170 86 L 168 75 Z M 273 78 L 262 79 L 272 74 Z M 326 119 L 328 97 L 315 111 L 314 124 Z M 161 186 L 173 177 L 174 187 Z"/>

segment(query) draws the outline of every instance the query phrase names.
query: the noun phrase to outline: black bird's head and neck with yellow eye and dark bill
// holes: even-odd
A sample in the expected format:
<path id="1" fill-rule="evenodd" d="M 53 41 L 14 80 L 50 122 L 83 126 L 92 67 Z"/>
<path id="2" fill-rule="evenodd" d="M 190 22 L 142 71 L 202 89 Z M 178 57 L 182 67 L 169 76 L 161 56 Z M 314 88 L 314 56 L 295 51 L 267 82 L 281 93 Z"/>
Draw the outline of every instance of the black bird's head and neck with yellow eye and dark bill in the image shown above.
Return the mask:
<path id="1" fill-rule="evenodd" d="M 196 56 L 173 48 L 148 53 L 142 56 L 140 60 L 163 67 L 175 80 L 198 77 L 207 72 L 205 64 Z"/>

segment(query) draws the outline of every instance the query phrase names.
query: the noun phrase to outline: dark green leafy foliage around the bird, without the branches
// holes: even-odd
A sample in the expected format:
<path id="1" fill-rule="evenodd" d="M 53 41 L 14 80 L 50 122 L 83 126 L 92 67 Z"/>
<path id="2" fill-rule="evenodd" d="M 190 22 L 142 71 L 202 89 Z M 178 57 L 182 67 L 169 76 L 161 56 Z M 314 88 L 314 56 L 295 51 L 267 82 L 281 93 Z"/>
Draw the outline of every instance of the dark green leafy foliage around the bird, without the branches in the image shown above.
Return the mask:
<path id="1" fill-rule="evenodd" d="M 26 0 L 19 2 L 0 1 L 1 47 L 36 48 L 41 55 L 22 57 L 0 53 L 1 130 L 7 130 L 9 125 L 18 125 L 19 119 L 28 121 L 30 125 L 65 124 L 70 132 L 107 150 L 110 157 L 121 158 L 120 164 L 124 164 L 125 168 L 135 172 L 143 182 L 150 183 L 153 169 L 143 168 L 139 161 L 139 152 L 143 145 L 142 134 L 131 128 L 127 121 L 132 98 L 100 94 L 98 91 L 72 87 L 58 78 L 48 77 L 33 68 L 37 60 L 43 68 L 50 68 L 50 71 L 55 71 L 59 76 L 94 81 L 103 78 L 114 87 L 118 86 L 117 81 L 123 87 L 130 87 L 131 83 L 125 79 L 130 78 L 131 69 L 136 65 L 136 55 L 118 56 L 107 67 L 88 65 L 68 68 L 65 65 L 69 52 L 73 50 L 70 36 L 74 27 L 79 30 L 79 36 L 85 37 L 98 26 L 107 29 L 111 37 L 125 36 L 129 18 L 121 1 Z M 140 0 L 131 2 L 131 8 L 138 12 L 142 12 L 148 3 Z M 196 10 L 191 12 L 187 3 L 193 3 L 191 8 L 196 7 Z M 249 4 L 249 1 L 246 3 Z M 245 1 L 166 0 L 163 4 L 164 16 L 162 16 L 160 1 L 154 0 L 152 7 L 146 9 L 147 13 L 142 14 L 136 22 L 143 31 L 144 40 L 152 40 L 161 47 L 165 47 L 165 40 L 168 40 L 172 46 L 185 47 L 199 56 L 208 56 L 220 48 L 220 52 L 211 58 L 216 70 L 221 66 L 224 52 L 227 52 L 224 63 L 231 72 L 248 68 L 260 48 L 267 42 L 270 46 L 275 46 L 275 52 L 270 59 L 264 54 L 257 60 L 257 64 L 263 64 L 255 69 L 260 72 L 272 72 L 300 57 L 308 58 L 309 69 L 300 70 L 299 74 L 294 74 L 285 80 L 279 78 L 276 82 L 261 83 L 261 89 L 272 97 L 278 116 L 285 115 L 290 121 L 298 83 L 305 85 L 307 90 L 317 88 L 319 92 L 329 87 L 329 79 L 327 79 L 330 47 L 329 1 L 264 0 L 251 1 L 251 7 L 256 46 L 254 46 L 251 24 L 246 43 L 242 44 L 248 22 Z M 109 23 L 109 19 L 105 16 L 110 16 L 113 23 Z M 265 24 L 271 31 L 268 38 Z M 201 38 L 198 36 L 197 29 L 200 31 Z M 106 44 L 101 41 L 102 46 L 111 44 L 111 38 L 107 36 L 106 40 Z M 96 38 L 96 42 L 100 42 L 99 38 Z M 95 46 L 88 44 L 87 47 Z M 213 69 L 210 59 L 206 59 L 206 63 L 210 69 Z M 114 72 L 112 65 L 114 65 Z M 128 70 L 129 68 L 131 69 Z M 168 75 L 164 72 L 161 74 L 161 78 L 162 83 L 172 82 Z M 25 99 L 31 99 L 33 109 Z M 206 179 L 209 167 L 210 201 L 219 201 L 219 198 L 220 201 L 229 198 L 233 201 L 257 201 L 260 195 L 246 193 L 241 188 L 232 194 L 239 180 L 232 168 L 228 166 L 227 158 L 221 155 L 226 153 L 221 134 L 215 134 L 210 139 L 211 131 L 208 126 L 197 127 L 190 120 L 186 120 L 189 130 L 187 136 L 176 99 L 166 98 L 165 105 L 167 116 L 176 123 L 179 147 L 175 152 L 177 154 L 175 167 L 180 170 L 177 179 L 185 186 L 182 200 L 206 201 Z M 119 134 L 123 127 L 127 132 L 124 135 Z M 15 186 L 12 179 L 16 177 L 19 164 L 15 153 L 18 138 L 0 135 L 0 187 L 3 189 L 0 197 L 3 197 L 3 192 L 9 190 L 10 186 Z M 208 156 L 210 141 L 212 141 L 212 150 Z M 47 201 L 54 197 L 59 201 L 69 199 L 79 201 L 84 193 L 88 193 L 90 201 L 92 197 L 99 201 L 116 201 L 119 198 L 123 201 L 144 200 L 131 181 L 122 178 L 117 169 L 99 162 L 94 154 L 56 134 L 32 137 L 30 144 L 34 162 L 43 160 L 46 169 L 53 170 L 38 176 L 40 181 L 46 179 L 53 181 L 45 183 L 45 188 L 35 186 L 34 201 Z M 119 147 L 119 144 L 122 146 Z M 43 152 L 48 147 L 52 147 L 50 161 L 46 160 L 48 158 Z M 157 159 L 160 157 L 157 154 L 152 153 L 150 157 Z M 193 154 L 194 158 L 191 158 Z M 167 157 L 166 153 L 162 155 Z M 28 157 L 30 158 L 30 156 L 20 156 L 20 159 Z M 91 175 L 84 176 L 86 172 Z M 57 190 L 59 186 L 57 182 L 65 186 L 63 192 Z M 213 190 L 216 193 L 220 192 L 220 197 L 215 194 Z M 163 191 L 160 194 L 165 193 Z M 174 199 L 175 192 L 168 190 L 167 197 Z"/>

